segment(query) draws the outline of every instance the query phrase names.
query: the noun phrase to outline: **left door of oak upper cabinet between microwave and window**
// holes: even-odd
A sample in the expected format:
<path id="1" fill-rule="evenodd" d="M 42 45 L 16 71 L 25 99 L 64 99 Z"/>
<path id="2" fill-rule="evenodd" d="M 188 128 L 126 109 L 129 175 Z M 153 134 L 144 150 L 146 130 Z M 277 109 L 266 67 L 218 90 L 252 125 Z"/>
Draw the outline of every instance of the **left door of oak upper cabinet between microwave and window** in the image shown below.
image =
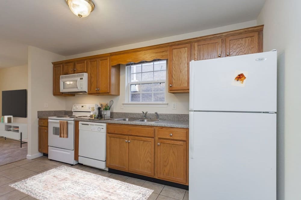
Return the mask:
<path id="1" fill-rule="evenodd" d="M 98 92 L 98 60 L 88 60 L 88 94 Z"/>

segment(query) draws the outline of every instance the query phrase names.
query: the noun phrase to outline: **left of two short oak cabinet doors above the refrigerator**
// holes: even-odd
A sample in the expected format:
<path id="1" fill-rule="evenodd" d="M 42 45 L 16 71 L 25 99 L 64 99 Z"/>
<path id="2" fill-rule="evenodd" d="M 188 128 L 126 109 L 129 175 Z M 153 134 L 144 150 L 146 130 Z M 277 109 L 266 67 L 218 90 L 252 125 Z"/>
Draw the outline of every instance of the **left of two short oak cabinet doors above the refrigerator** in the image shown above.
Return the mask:
<path id="1" fill-rule="evenodd" d="M 222 46 L 224 46 L 222 39 L 195 42 L 193 43 L 194 60 L 222 57 Z"/>

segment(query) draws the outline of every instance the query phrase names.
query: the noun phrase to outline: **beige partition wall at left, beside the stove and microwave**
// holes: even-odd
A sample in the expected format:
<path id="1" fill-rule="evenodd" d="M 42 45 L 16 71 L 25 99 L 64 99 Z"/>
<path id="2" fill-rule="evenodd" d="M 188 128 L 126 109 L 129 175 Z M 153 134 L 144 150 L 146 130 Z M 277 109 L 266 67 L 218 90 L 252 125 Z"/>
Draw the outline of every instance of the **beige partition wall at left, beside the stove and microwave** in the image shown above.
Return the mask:
<path id="1" fill-rule="evenodd" d="M 28 47 L 28 154 L 32 159 L 42 154 L 38 151 L 39 110 L 65 110 L 64 97 L 52 95 L 52 64 L 63 60 L 64 56 L 33 46 Z M 48 108 L 44 107 L 48 103 Z"/>

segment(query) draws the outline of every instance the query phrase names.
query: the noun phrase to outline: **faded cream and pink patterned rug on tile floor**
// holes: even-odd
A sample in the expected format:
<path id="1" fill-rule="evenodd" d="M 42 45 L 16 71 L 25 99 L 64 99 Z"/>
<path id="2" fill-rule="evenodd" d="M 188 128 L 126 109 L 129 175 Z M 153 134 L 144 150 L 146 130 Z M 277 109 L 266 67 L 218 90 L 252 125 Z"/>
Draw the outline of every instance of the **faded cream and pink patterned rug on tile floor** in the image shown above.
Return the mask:
<path id="1" fill-rule="evenodd" d="M 36 199 L 146 200 L 154 190 L 59 166 L 10 185 Z"/>

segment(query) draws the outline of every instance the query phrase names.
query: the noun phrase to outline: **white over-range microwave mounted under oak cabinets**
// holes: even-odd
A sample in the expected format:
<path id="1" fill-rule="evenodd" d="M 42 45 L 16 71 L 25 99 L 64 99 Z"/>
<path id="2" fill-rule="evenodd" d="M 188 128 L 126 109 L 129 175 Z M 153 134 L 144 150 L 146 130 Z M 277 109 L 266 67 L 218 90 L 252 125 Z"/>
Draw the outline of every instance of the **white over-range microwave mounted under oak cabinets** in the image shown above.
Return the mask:
<path id="1" fill-rule="evenodd" d="M 66 94 L 88 93 L 88 73 L 61 75 L 60 91 Z"/>

